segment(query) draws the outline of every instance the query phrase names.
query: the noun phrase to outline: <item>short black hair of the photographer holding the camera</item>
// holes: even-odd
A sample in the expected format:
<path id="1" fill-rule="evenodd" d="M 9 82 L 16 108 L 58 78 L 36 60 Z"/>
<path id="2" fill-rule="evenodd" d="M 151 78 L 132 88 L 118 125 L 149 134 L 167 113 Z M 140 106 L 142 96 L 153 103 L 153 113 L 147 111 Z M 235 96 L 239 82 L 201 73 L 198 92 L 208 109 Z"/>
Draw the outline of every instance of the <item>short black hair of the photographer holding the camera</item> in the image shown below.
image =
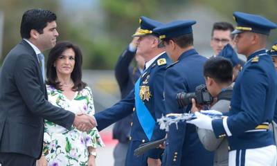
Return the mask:
<path id="1" fill-rule="evenodd" d="M 204 64 L 204 76 L 211 77 L 217 84 L 231 84 L 233 66 L 229 59 L 213 57 Z"/>

